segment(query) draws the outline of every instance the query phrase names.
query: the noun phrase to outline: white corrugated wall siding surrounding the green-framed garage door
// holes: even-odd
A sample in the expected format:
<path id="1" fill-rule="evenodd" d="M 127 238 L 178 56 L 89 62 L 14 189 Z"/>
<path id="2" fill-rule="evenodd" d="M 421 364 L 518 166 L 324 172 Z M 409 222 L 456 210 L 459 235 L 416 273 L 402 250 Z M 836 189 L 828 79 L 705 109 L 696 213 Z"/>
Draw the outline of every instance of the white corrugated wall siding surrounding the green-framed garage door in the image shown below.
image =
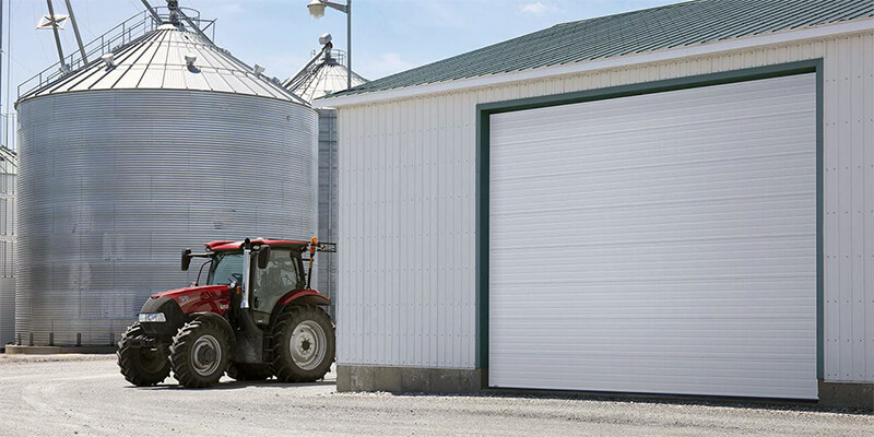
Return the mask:
<path id="1" fill-rule="evenodd" d="M 874 381 L 874 32 L 341 108 L 339 363 L 474 367 L 476 104 L 817 58 L 825 378 Z"/>

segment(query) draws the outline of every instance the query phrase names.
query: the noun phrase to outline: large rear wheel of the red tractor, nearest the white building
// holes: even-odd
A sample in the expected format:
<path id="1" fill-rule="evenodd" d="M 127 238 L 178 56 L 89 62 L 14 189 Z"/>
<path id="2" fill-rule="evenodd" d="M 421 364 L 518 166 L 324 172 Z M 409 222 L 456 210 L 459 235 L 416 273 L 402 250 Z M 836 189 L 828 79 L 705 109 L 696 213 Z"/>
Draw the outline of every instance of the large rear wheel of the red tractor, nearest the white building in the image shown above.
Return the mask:
<path id="1" fill-rule="evenodd" d="M 298 328 L 302 331 L 298 331 L 296 341 L 299 342 L 297 346 L 300 352 L 296 356 L 310 356 L 309 361 L 296 361 L 292 354 L 292 338 Z M 324 334 L 323 353 L 318 351 L 320 340 L 315 339 L 319 330 Z M 312 382 L 322 379 L 334 361 L 334 326 L 323 310 L 311 306 L 291 306 L 276 318 L 273 326 L 273 375 L 283 382 Z M 310 351 L 310 355 L 302 355 L 307 351 Z"/>

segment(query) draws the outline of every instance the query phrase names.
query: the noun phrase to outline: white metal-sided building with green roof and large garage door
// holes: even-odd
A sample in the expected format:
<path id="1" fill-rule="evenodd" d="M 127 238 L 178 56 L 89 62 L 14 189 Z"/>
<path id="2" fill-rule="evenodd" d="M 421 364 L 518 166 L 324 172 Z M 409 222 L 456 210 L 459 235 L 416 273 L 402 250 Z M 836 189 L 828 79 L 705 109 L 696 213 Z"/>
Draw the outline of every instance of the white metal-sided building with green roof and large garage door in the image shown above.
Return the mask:
<path id="1" fill-rule="evenodd" d="M 341 390 L 874 408 L 871 1 L 565 23 L 321 105 Z"/>

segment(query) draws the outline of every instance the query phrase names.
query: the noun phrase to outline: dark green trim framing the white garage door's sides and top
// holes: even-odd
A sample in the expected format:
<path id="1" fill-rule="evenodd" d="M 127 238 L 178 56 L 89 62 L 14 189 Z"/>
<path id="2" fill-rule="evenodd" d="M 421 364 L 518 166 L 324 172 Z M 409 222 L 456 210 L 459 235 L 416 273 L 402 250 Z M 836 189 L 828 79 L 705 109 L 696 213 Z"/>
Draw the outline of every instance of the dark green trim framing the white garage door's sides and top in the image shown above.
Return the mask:
<path id="1" fill-rule="evenodd" d="M 476 105 L 476 368 L 488 368 L 489 116 L 550 106 L 816 73 L 816 377 L 824 379 L 823 59 Z M 483 388 L 487 388 L 486 378 Z"/>

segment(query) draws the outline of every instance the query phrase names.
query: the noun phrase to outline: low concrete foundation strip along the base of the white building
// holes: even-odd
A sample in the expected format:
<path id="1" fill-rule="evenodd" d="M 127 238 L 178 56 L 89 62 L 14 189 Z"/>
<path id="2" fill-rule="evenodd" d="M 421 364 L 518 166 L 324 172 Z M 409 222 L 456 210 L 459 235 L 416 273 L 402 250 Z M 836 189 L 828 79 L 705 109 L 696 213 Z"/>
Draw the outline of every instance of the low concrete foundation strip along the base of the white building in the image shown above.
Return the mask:
<path id="1" fill-rule="evenodd" d="M 387 391 L 391 393 L 489 393 L 560 395 L 604 400 L 702 401 L 716 403 L 822 406 L 874 411 L 874 383 L 819 381 L 818 401 L 728 398 L 704 395 L 581 392 L 562 390 L 491 389 L 486 369 L 441 369 L 391 366 L 336 366 L 336 391 Z"/>

